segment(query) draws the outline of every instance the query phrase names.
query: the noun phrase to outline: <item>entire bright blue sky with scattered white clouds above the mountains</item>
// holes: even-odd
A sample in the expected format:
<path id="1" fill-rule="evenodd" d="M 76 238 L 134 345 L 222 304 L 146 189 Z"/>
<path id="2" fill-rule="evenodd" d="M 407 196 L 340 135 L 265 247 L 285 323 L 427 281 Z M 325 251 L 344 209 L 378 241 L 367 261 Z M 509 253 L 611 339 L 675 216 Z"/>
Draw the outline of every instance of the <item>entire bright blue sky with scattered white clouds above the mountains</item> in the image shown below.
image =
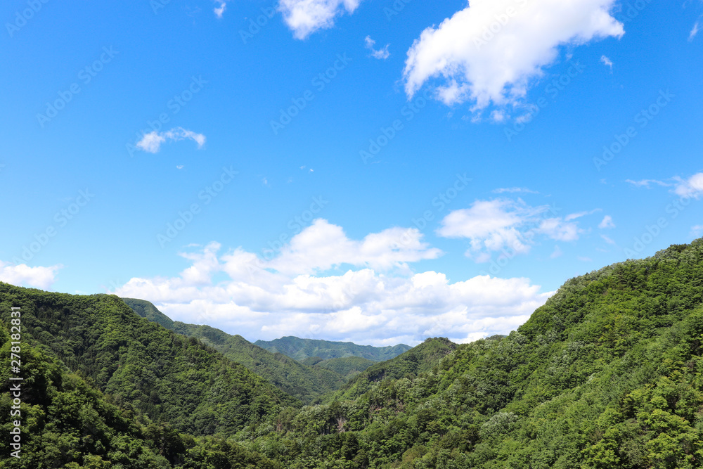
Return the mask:
<path id="1" fill-rule="evenodd" d="M 0 12 L 2 281 L 467 342 L 703 235 L 700 1 Z"/>

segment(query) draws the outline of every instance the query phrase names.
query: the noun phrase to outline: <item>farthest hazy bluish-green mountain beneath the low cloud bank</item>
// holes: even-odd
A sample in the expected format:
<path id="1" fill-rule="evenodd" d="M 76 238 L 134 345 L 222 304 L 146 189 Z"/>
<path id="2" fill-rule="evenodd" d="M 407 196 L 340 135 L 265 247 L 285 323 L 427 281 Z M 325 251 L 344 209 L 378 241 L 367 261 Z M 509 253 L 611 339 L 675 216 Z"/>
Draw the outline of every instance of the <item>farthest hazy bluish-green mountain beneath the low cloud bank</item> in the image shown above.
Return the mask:
<path id="1" fill-rule="evenodd" d="M 257 340 L 254 345 L 269 350 L 269 352 L 279 352 L 288 355 L 298 361 L 303 361 L 312 356 L 318 356 L 321 359 L 359 356 L 370 361 L 385 361 L 411 349 L 411 347 L 404 344 L 389 347 L 372 347 L 370 345 L 356 345 L 352 342 L 299 339 L 292 336 L 269 342 Z"/>

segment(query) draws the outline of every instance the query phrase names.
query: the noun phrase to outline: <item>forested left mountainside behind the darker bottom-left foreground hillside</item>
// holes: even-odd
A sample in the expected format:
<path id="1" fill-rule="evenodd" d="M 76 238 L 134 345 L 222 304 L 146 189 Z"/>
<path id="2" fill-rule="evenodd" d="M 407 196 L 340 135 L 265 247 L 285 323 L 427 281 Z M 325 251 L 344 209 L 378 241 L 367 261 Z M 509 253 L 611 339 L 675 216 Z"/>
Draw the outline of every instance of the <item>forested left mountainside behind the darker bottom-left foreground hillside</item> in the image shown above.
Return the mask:
<path id="1" fill-rule="evenodd" d="M 112 295 L 65 295 L 0 283 L 0 312 L 22 307 L 30 345 L 47 347 L 155 421 L 193 435 L 235 432 L 265 422 L 297 401 L 244 366 L 142 319 Z"/>

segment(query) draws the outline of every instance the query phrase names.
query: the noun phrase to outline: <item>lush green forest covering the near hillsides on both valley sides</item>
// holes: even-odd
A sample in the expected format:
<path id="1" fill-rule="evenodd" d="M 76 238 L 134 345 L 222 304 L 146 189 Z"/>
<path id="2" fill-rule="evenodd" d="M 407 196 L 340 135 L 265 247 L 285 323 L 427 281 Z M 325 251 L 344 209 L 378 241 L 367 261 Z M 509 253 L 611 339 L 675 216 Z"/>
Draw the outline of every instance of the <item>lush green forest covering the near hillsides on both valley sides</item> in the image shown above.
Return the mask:
<path id="1" fill-rule="evenodd" d="M 306 406 L 117 297 L 0 284 L 4 389 L 13 306 L 25 439 L 2 467 L 703 467 L 701 240 L 573 278 L 507 337 L 426 340 Z"/>

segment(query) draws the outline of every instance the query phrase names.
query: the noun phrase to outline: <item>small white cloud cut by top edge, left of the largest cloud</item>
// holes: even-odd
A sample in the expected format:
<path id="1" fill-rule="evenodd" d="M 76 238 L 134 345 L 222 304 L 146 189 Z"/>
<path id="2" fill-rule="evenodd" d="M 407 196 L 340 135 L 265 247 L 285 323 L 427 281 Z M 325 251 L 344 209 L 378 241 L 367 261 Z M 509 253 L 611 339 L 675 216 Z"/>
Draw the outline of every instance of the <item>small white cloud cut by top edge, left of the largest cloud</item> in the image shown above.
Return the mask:
<path id="1" fill-rule="evenodd" d="M 361 0 L 280 0 L 278 11 L 296 39 L 305 39 L 313 32 L 333 27 L 335 18 L 344 11 L 354 13 Z"/>

